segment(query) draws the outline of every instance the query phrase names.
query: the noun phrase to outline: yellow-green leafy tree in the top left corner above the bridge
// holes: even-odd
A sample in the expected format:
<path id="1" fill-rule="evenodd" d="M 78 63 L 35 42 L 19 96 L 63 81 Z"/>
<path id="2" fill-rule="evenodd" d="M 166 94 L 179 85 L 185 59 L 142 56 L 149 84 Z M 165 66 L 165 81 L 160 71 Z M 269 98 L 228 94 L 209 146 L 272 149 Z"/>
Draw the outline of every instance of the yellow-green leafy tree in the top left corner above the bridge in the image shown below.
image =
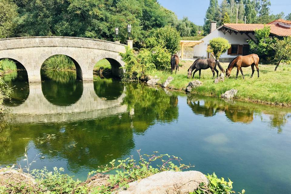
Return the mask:
<path id="1" fill-rule="evenodd" d="M 17 6 L 10 0 L 0 0 L 0 38 L 14 35 L 16 17 L 18 17 Z"/>

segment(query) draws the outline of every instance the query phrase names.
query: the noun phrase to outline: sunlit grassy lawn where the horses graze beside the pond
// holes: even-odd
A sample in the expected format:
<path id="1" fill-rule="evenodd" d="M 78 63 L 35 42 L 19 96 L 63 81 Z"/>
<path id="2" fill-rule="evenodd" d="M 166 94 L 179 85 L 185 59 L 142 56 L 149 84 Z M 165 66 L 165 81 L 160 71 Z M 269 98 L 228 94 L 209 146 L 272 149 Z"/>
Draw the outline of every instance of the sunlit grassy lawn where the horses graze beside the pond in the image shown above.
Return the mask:
<path id="1" fill-rule="evenodd" d="M 199 72 L 196 72 L 194 79 L 188 79 L 187 70 L 193 62 L 182 61 L 180 63 L 183 66 L 179 67 L 180 71 L 177 74 L 155 71 L 151 75 L 157 75 L 161 78 L 159 84 L 162 84 L 169 76 L 172 76 L 174 80 L 169 84 L 169 88 L 185 90 L 190 81 L 199 79 Z M 228 63 L 221 63 L 221 65 L 226 69 Z M 199 95 L 219 97 L 222 93 L 234 88 L 238 90 L 236 99 L 291 106 L 291 65 L 281 64 L 276 72 L 274 72 L 274 65 L 259 65 L 259 69 L 259 78 L 257 78 L 256 71 L 253 78 L 250 78 L 252 69 L 249 67 L 243 68 L 245 79 L 243 79 L 240 72 L 238 79 L 235 79 L 236 68 L 234 68 L 231 72 L 231 77 L 218 84 L 214 84 L 211 69 L 202 70 L 200 79 L 202 86 L 192 90 L 192 92 Z"/>

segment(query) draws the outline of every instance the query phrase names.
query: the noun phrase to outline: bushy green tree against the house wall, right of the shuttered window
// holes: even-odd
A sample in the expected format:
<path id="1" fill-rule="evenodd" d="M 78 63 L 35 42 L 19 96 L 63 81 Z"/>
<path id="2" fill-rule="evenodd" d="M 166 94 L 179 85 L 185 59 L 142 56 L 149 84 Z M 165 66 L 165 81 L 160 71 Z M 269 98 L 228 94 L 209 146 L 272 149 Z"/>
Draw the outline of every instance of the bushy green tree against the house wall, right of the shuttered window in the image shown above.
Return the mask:
<path id="1" fill-rule="evenodd" d="M 255 41 L 252 39 L 248 41 L 251 53 L 255 53 L 263 59 L 270 59 L 274 56 L 272 45 L 276 40 L 269 37 L 270 31 L 270 26 L 265 26 L 262 29 L 255 30 Z"/>

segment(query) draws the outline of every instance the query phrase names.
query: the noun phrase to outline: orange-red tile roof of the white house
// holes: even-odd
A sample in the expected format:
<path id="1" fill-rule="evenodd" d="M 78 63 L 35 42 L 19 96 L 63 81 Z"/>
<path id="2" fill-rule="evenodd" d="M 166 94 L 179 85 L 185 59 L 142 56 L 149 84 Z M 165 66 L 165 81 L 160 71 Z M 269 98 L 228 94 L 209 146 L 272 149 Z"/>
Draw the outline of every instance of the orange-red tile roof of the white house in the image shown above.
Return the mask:
<path id="1" fill-rule="evenodd" d="M 291 25 L 291 21 L 282 20 L 282 19 L 276 20 L 276 21 L 278 21 L 278 22 L 284 21 L 285 23 L 289 22 Z M 271 22 L 271 23 L 273 23 L 273 22 Z M 289 23 L 286 23 L 286 24 L 289 24 Z M 264 24 L 224 24 L 223 26 L 226 28 L 233 29 L 237 32 L 253 32 L 256 29 L 264 28 Z M 266 24 L 266 26 L 271 27 L 271 34 L 273 34 L 273 35 L 291 36 L 291 28 L 284 27 L 284 26 L 279 25 L 279 24 Z"/>

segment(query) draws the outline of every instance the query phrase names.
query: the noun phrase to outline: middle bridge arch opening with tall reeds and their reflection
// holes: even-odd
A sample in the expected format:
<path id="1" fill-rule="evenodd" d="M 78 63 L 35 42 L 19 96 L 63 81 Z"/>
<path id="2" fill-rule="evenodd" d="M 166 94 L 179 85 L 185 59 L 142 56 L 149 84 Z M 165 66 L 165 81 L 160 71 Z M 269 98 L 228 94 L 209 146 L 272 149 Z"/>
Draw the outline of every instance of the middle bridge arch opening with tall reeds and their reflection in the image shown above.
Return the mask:
<path id="1" fill-rule="evenodd" d="M 57 106 L 75 104 L 83 94 L 82 70 L 67 55 L 53 55 L 41 67 L 42 93 Z"/>

